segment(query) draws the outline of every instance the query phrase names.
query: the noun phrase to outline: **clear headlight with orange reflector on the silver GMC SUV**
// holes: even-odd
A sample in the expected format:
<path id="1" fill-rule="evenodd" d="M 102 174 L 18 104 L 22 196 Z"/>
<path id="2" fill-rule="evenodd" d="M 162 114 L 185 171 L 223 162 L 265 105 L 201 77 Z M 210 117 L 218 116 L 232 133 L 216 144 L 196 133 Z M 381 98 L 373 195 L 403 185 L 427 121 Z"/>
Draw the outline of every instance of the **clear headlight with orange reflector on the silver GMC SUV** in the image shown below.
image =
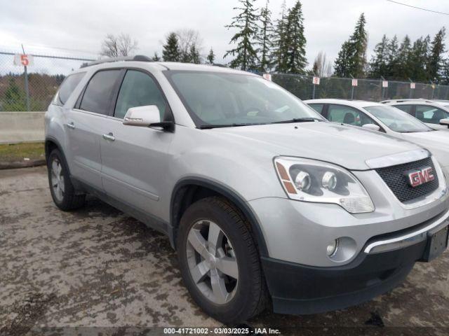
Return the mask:
<path id="1" fill-rule="evenodd" d="M 327 162 L 279 157 L 274 165 L 292 200 L 333 203 L 351 214 L 374 211 L 374 204 L 356 177 Z"/>

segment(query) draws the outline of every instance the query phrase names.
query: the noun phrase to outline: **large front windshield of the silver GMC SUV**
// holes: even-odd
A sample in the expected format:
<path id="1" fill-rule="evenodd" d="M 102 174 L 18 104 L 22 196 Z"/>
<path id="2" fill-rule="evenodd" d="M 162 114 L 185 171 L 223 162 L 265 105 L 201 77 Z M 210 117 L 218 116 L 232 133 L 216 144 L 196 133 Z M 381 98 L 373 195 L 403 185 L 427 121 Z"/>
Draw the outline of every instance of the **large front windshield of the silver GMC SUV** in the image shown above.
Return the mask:
<path id="1" fill-rule="evenodd" d="M 165 71 L 197 127 L 324 120 L 300 99 L 259 76 Z"/>

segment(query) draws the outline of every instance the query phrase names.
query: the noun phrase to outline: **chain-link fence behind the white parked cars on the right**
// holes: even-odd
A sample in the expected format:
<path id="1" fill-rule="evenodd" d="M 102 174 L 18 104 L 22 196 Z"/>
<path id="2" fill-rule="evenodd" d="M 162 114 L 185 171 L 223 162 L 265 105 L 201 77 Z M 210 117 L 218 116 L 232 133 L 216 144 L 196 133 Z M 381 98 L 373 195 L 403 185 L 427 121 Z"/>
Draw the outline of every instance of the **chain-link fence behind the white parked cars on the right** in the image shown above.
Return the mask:
<path id="1" fill-rule="evenodd" d="M 300 99 L 358 99 L 380 102 L 386 99 L 445 99 L 449 100 L 449 85 L 412 83 L 382 79 L 320 78 L 313 84 L 312 76 L 273 73 L 272 80 Z M 414 88 L 413 88 L 414 87 Z"/>

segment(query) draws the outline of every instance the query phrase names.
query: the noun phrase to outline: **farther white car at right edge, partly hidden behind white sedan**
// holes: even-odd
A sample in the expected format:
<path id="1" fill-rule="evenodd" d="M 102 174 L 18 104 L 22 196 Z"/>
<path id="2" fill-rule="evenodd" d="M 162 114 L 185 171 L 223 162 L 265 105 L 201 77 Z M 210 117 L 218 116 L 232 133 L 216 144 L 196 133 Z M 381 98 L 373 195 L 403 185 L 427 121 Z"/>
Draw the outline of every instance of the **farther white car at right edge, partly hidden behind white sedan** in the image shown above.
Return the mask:
<path id="1" fill-rule="evenodd" d="M 441 102 L 425 99 L 398 99 L 384 100 L 381 103 L 397 107 L 434 130 L 448 130 L 449 107 Z"/>

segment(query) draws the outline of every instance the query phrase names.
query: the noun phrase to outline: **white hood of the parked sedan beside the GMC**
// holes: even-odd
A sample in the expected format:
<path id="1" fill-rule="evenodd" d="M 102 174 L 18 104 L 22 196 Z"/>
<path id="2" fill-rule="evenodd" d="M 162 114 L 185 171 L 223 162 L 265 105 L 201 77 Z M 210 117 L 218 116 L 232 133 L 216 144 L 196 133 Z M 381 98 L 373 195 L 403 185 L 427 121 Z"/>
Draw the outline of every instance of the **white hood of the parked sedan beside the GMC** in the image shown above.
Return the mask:
<path id="1" fill-rule="evenodd" d="M 403 139 L 412 141 L 427 148 L 443 167 L 449 166 L 449 132 L 445 130 L 433 132 L 403 133 Z"/>

